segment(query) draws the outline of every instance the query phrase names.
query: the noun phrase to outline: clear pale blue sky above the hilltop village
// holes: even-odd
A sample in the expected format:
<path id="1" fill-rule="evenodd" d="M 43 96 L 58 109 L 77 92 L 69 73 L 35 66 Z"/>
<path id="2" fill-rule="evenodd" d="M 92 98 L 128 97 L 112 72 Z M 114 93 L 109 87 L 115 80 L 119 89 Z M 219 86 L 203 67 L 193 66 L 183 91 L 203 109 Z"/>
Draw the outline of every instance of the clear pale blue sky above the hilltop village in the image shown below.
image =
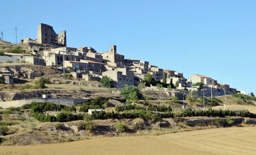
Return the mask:
<path id="1" fill-rule="evenodd" d="M 39 23 L 67 31 L 67 46 L 203 74 L 256 93 L 255 0 L 3 0 L 0 31 L 36 39 Z"/>

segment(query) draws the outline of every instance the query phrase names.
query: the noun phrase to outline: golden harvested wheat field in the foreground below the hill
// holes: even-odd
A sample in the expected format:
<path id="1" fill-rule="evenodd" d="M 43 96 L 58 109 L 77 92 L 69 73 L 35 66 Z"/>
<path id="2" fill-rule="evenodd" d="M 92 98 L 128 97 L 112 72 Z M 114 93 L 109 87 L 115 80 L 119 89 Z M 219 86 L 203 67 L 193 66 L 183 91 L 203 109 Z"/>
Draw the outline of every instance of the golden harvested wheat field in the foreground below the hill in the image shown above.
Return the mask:
<path id="1" fill-rule="evenodd" d="M 0 147 L 1 155 L 255 155 L 256 127 L 231 127 L 160 136 L 93 138 L 62 144 Z"/>

